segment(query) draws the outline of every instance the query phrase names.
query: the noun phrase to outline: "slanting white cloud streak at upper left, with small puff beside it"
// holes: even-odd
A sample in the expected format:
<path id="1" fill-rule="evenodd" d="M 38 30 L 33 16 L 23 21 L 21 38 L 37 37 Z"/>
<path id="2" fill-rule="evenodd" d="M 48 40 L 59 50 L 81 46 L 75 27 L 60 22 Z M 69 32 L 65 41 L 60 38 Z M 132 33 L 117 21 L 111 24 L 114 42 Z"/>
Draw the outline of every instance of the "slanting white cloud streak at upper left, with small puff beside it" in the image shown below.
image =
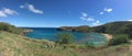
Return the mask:
<path id="1" fill-rule="evenodd" d="M 35 9 L 35 7 L 33 4 L 24 4 L 24 5 L 20 5 L 20 8 L 28 9 L 29 11 L 34 12 L 34 13 L 43 14 L 43 11 Z"/>

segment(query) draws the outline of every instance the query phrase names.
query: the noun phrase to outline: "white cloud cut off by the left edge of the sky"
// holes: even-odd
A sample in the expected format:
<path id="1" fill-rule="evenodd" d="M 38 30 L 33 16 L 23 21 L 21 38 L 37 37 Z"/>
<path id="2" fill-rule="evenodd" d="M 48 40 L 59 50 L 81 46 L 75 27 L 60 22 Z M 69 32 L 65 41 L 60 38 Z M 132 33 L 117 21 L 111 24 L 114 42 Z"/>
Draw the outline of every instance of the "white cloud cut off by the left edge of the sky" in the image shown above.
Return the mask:
<path id="1" fill-rule="evenodd" d="M 0 16 L 8 16 L 8 15 L 14 15 L 14 14 L 19 14 L 19 13 L 14 10 L 7 9 L 7 8 L 3 8 L 2 10 L 0 10 Z"/>

